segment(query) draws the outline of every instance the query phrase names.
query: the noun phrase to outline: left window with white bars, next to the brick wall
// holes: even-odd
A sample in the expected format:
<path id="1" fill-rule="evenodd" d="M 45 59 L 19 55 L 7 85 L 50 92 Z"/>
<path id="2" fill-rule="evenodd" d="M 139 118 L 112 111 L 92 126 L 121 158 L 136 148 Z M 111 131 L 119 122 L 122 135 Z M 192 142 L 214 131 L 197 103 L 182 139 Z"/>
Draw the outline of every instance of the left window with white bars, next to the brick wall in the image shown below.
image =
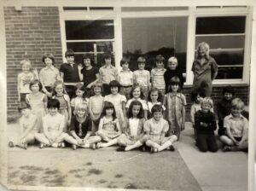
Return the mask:
<path id="1" fill-rule="evenodd" d="M 77 63 L 87 53 L 93 55 L 96 66 L 100 67 L 103 53 L 113 52 L 113 20 L 66 20 L 65 29 L 67 49 L 73 49 Z"/>

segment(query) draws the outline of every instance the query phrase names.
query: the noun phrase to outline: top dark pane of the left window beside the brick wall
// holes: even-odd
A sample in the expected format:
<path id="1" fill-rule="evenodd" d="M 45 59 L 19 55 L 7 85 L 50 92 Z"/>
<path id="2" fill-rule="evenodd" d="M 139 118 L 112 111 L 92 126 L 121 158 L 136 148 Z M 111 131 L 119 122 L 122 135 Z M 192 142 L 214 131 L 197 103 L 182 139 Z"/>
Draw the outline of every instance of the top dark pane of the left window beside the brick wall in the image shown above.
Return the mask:
<path id="1" fill-rule="evenodd" d="M 66 20 L 67 40 L 113 39 L 113 20 Z"/>

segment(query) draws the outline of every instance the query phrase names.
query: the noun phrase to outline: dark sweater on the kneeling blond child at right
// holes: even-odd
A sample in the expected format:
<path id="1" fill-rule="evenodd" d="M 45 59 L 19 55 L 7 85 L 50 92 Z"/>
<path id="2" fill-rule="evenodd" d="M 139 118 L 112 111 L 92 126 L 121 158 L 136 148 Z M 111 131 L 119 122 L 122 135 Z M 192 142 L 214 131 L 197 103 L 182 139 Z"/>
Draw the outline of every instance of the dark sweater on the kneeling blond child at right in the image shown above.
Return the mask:
<path id="1" fill-rule="evenodd" d="M 201 122 L 207 124 L 207 127 L 201 125 Z M 212 112 L 203 113 L 201 110 L 195 113 L 195 129 L 198 134 L 201 135 L 214 135 L 214 130 L 216 130 L 216 120 L 215 115 Z"/>

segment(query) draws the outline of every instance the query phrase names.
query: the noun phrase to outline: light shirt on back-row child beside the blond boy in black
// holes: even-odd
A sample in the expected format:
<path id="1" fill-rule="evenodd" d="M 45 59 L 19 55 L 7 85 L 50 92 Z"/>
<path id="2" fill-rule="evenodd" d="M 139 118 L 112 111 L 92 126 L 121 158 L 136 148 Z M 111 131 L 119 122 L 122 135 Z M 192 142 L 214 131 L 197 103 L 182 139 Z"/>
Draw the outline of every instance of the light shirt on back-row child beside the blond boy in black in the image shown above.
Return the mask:
<path id="1" fill-rule="evenodd" d="M 154 88 L 166 89 L 164 74 L 166 68 L 154 68 L 151 70 L 151 78 Z"/>

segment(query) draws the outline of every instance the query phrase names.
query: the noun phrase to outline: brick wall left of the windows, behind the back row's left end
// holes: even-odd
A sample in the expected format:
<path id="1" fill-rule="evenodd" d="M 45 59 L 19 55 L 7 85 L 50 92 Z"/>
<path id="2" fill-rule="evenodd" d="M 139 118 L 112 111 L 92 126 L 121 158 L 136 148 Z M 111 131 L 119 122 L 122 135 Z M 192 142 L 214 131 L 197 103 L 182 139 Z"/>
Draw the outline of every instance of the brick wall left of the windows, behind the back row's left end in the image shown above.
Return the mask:
<path id="1" fill-rule="evenodd" d="M 8 113 L 17 109 L 17 74 L 21 72 L 20 61 L 29 59 L 32 67 L 44 67 L 42 55 L 55 55 L 55 66 L 60 67 L 61 29 L 59 10 L 56 7 L 4 8 L 7 52 L 7 108 Z"/>

